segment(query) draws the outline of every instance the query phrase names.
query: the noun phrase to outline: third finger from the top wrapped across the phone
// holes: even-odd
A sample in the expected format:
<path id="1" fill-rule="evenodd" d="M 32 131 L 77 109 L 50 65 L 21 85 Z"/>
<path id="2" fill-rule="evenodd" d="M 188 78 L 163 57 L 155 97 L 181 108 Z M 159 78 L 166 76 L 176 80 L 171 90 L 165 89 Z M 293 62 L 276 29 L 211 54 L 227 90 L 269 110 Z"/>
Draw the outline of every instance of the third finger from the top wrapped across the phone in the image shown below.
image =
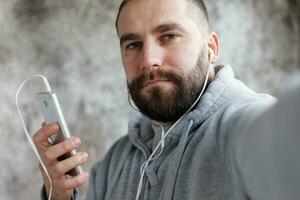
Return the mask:
<path id="1" fill-rule="evenodd" d="M 55 165 L 55 173 L 53 173 L 53 175 L 55 177 L 60 177 L 78 165 L 83 164 L 87 161 L 87 159 L 88 154 L 86 152 L 77 153 L 63 161 L 58 162 Z"/>

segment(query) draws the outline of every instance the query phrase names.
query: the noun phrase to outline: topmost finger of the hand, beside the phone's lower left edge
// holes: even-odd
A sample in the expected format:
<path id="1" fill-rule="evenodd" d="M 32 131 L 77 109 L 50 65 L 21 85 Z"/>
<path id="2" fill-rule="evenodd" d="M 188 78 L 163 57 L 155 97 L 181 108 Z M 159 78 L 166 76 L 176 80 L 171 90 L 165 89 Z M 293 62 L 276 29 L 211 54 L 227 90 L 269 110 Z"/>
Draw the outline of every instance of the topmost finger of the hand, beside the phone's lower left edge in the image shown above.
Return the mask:
<path id="1" fill-rule="evenodd" d="M 49 125 L 44 125 L 36 134 L 33 136 L 33 142 L 36 145 L 49 144 L 48 138 L 59 131 L 59 126 L 57 123 L 52 123 Z"/>

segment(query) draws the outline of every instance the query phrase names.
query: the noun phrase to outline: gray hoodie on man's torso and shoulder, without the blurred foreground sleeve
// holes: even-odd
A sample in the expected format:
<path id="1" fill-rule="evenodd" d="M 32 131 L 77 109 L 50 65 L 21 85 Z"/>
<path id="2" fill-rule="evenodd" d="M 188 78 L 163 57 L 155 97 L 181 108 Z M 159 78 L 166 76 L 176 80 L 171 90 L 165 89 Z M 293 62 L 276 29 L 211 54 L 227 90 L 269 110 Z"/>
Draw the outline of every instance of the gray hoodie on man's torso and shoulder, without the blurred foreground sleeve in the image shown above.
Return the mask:
<path id="1" fill-rule="evenodd" d="M 227 200 L 243 193 L 232 156 L 236 138 L 275 99 L 235 79 L 230 66 L 219 66 L 217 71 L 196 108 L 171 130 L 164 150 L 150 162 L 140 199 Z M 154 134 L 149 118 L 133 118 L 128 135 L 92 168 L 86 199 L 135 199 L 141 165 L 152 151 L 147 144 Z"/>

